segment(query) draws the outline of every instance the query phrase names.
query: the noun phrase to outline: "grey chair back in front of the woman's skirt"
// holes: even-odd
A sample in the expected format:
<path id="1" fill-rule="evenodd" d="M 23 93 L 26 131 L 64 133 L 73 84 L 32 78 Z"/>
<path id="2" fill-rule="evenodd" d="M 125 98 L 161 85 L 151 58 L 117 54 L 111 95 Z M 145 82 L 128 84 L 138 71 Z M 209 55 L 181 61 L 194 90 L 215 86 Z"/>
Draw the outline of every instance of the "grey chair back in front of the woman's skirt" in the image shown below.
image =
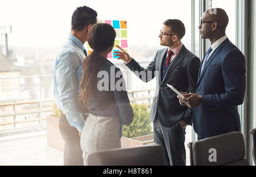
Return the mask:
<path id="1" fill-rule="evenodd" d="M 85 155 L 85 165 L 163 166 L 164 151 L 162 146 L 156 144 L 98 151 Z"/>

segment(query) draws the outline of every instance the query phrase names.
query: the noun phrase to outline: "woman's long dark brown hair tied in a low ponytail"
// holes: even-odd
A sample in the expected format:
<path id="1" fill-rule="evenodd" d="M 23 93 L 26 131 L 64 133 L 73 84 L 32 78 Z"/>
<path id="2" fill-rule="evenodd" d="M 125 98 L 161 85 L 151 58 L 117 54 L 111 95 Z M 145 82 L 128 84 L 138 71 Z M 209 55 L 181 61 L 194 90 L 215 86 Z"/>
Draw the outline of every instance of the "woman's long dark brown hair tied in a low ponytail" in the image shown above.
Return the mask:
<path id="1" fill-rule="evenodd" d="M 113 47 L 115 40 L 115 30 L 108 23 L 97 23 L 90 27 L 87 41 L 93 52 L 82 62 L 82 80 L 80 83 L 81 93 L 79 101 L 88 108 L 88 100 L 95 86 L 95 81 L 100 68 L 100 52 Z M 112 49 L 112 48 L 111 48 Z"/>

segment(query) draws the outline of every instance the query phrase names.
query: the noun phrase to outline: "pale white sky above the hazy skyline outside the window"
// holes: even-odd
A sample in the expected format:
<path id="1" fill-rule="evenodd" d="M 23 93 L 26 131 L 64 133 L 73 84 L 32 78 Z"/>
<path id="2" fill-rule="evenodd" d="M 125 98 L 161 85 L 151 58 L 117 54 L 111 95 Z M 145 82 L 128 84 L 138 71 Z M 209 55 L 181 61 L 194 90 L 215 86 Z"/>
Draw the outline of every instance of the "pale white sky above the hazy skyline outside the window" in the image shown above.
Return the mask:
<path id="1" fill-rule="evenodd" d="M 129 47 L 161 48 L 159 29 L 164 20 L 180 19 L 187 29 L 183 43 L 191 45 L 191 2 L 181 1 L 2 1 L 0 26 L 11 25 L 11 47 L 59 48 L 71 28 L 76 7 L 89 6 L 98 19 L 127 20 Z"/>

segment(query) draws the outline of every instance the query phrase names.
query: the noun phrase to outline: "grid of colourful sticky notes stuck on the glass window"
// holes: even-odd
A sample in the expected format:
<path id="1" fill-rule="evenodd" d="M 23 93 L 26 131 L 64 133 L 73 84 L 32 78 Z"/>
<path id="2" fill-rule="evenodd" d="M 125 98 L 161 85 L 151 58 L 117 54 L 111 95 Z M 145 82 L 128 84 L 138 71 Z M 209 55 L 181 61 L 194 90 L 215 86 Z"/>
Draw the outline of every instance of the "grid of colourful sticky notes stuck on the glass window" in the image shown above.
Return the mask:
<path id="1" fill-rule="evenodd" d="M 115 41 L 114 41 L 114 47 L 113 50 L 108 54 L 108 58 L 118 58 L 115 57 L 115 51 L 119 51 L 119 49 L 116 47 L 116 45 L 119 45 L 122 47 L 126 52 L 128 49 L 128 43 L 127 43 L 127 21 L 126 20 L 98 20 L 98 23 L 108 23 L 111 24 L 115 29 Z M 84 45 L 86 51 L 88 52 L 88 55 L 92 53 L 92 48 L 90 48 L 90 45 L 88 42 Z"/>

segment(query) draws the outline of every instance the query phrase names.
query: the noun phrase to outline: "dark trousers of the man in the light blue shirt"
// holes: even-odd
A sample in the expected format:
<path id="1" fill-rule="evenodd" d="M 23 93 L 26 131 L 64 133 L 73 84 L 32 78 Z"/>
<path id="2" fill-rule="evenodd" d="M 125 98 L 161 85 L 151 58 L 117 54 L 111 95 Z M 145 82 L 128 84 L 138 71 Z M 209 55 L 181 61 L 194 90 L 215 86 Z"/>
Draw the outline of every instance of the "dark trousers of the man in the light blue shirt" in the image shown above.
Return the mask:
<path id="1" fill-rule="evenodd" d="M 75 127 L 71 127 L 63 113 L 60 116 L 59 127 L 64 140 L 64 166 L 84 165 L 79 131 Z"/>

